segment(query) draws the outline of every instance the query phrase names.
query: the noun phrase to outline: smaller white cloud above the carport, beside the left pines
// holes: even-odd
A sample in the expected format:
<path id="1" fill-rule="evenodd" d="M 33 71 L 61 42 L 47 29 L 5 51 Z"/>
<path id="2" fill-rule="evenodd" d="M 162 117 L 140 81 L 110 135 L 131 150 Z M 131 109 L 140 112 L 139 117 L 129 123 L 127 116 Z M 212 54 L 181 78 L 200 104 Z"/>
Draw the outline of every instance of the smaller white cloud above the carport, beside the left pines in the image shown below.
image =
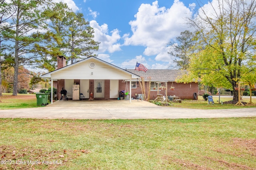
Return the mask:
<path id="1" fill-rule="evenodd" d="M 92 20 L 90 21 L 90 26 L 94 28 L 94 40 L 100 42 L 99 53 L 104 53 L 106 51 L 114 53 L 115 51 L 121 50 L 120 43 L 117 43 L 121 38 L 118 29 L 112 30 L 110 32 L 111 35 L 108 35 L 107 24 L 99 26 L 95 20 Z"/>

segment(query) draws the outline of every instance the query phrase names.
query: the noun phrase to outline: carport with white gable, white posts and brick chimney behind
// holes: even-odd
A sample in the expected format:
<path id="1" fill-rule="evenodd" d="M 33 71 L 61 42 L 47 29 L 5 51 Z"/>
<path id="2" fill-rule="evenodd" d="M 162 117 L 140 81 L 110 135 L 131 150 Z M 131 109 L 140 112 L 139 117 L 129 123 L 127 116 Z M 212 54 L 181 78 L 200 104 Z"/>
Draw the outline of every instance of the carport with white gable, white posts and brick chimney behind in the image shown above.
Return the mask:
<path id="1" fill-rule="evenodd" d="M 80 93 L 95 99 L 118 99 L 119 92 L 124 90 L 122 82 L 130 81 L 129 100 L 131 101 L 131 82 L 140 76 L 121 69 L 96 57 L 88 57 L 66 66 L 66 58 L 58 56 L 58 69 L 41 77 L 51 81 L 51 101 L 53 101 L 53 87 L 60 92 L 67 90 L 67 96 L 72 96 L 72 85 L 80 85 Z M 71 97 L 72 98 L 72 97 Z"/>

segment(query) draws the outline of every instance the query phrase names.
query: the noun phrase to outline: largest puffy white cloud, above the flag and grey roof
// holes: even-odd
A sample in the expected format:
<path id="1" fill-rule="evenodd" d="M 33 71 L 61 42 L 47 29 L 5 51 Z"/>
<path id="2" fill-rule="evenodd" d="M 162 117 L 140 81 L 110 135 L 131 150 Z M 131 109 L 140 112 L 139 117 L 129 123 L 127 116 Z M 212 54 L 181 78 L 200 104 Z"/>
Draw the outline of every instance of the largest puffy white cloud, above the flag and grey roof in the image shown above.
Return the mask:
<path id="1" fill-rule="evenodd" d="M 130 38 L 124 36 L 124 45 L 143 45 L 144 55 L 156 55 L 157 61 L 166 61 L 170 58 L 166 44 L 188 29 L 186 18 L 191 16 L 190 9 L 179 0 L 174 0 L 168 9 L 159 8 L 158 1 L 141 4 L 136 19 L 129 22 L 133 34 Z"/>

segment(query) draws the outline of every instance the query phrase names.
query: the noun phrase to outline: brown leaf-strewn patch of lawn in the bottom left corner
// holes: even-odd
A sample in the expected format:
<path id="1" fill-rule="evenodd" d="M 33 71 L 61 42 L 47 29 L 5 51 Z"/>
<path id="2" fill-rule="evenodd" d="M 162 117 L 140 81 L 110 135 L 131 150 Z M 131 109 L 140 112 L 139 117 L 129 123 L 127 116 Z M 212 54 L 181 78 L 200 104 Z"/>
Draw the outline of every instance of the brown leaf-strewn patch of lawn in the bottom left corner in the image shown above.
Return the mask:
<path id="1" fill-rule="evenodd" d="M 5 169 L 55 169 L 70 160 L 90 153 L 89 150 L 52 150 L 0 146 L 0 170 Z"/>

